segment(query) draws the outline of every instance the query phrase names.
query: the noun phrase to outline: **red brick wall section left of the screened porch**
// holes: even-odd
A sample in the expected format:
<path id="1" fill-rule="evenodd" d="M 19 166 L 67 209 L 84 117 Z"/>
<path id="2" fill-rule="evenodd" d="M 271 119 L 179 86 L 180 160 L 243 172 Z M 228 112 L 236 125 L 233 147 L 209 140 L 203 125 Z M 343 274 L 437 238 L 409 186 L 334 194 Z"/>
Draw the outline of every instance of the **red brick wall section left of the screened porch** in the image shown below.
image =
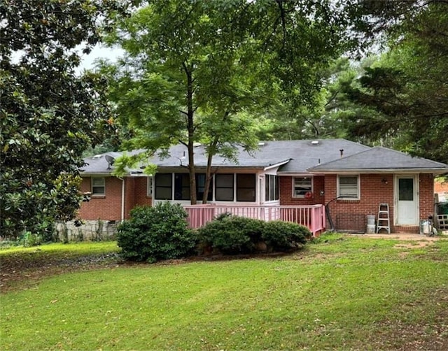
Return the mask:
<path id="1" fill-rule="evenodd" d="M 129 218 L 132 208 L 137 205 L 151 206 L 151 197 L 146 196 L 146 178 L 125 178 L 125 218 Z M 90 201 L 81 203 L 79 217 L 83 220 L 121 220 L 122 180 L 106 177 L 105 196 L 92 196 Z M 91 178 L 83 178 L 82 192 L 90 192 Z"/>

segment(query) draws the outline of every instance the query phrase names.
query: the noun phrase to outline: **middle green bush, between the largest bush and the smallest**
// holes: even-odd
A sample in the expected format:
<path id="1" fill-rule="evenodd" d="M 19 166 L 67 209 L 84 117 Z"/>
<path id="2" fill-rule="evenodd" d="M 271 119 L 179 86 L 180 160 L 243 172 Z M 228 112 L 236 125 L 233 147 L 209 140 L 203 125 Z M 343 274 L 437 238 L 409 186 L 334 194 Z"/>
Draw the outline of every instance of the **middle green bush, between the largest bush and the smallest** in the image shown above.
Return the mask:
<path id="1" fill-rule="evenodd" d="M 204 247 L 224 254 L 250 253 L 261 241 L 263 223 L 252 218 L 221 215 L 198 229 L 198 238 Z"/>

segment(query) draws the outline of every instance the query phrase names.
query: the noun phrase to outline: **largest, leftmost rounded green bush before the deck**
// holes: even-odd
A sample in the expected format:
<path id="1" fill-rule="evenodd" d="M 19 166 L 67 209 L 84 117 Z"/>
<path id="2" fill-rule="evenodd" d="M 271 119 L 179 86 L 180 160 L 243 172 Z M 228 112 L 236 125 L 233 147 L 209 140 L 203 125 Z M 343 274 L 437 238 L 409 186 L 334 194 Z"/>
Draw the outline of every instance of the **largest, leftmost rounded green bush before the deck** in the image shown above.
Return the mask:
<path id="1" fill-rule="evenodd" d="M 117 228 L 117 243 L 123 257 L 130 261 L 157 262 L 190 255 L 196 240 L 186 218 L 186 211 L 179 203 L 132 209 L 130 220 Z"/>

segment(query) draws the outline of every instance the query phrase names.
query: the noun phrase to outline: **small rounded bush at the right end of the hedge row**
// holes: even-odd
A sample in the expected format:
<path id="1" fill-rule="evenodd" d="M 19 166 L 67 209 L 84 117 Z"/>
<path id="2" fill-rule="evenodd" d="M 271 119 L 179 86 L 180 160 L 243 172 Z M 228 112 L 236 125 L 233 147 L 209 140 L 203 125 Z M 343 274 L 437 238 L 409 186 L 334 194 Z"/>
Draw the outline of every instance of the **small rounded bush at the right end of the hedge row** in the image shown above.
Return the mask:
<path id="1" fill-rule="evenodd" d="M 311 231 L 297 223 L 275 220 L 265 222 L 262 230 L 262 240 L 274 251 L 290 250 L 307 243 Z"/>

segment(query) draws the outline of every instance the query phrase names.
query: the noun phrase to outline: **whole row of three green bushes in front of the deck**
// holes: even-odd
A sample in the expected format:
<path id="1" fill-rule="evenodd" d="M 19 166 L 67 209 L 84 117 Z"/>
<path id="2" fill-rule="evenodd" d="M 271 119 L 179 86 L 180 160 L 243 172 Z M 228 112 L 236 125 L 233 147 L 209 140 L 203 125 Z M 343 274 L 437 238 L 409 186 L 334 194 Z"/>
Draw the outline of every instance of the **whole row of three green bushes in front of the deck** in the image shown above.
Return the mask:
<path id="1" fill-rule="evenodd" d="M 311 232 L 299 224 L 264 222 L 221 215 L 197 231 L 188 229 L 187 214 L 176 203 L 137 207 L 118 226 L 118 246 L 130 261 L 156 262 L 215 252 L 225 255 L 288 251 L 300 248 Z"/>

